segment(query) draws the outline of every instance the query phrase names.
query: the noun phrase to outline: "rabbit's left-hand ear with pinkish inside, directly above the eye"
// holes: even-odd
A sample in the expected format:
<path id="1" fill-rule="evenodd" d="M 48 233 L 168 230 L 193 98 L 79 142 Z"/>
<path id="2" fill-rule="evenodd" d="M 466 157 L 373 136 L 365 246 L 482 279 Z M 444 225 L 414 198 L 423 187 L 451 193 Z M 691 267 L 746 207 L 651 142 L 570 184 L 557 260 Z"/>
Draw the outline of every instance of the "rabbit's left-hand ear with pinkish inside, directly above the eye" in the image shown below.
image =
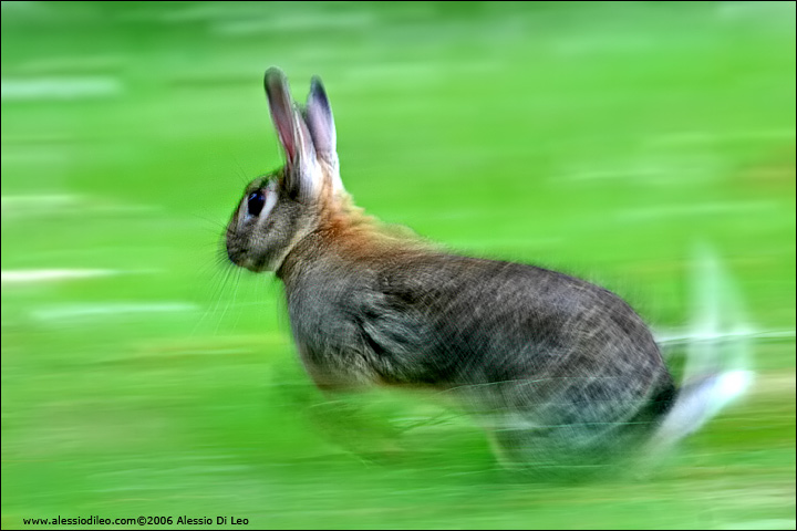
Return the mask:
<path id="1" fill-rule="evenodd" d="M 265 85 L 271 121 L 288 157 L 286 187 L 300 198 L 312 198 L 319 186 L 315 183 L 315 149 L 310 131 L 293 105 L 284 73 L 277 67 L 267 70 Z"/>

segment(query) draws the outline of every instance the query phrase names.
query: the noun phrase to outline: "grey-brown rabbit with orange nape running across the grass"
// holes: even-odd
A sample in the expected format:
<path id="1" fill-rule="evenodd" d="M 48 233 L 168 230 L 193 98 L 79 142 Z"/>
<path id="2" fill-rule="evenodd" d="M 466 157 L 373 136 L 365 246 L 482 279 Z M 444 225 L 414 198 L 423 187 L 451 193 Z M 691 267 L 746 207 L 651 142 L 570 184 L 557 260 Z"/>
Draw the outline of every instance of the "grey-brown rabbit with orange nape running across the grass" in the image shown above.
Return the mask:
<path id="1" fill-rule="evenodd" d="M 706 397 L 728 383 L 724 374 L 679 391 L 651 331 L 614 293 L 457 256 L 366 216 L 343 187 L 321 80 L 304 106 L 277 67 L 265 88 L 287 163 L 246 187 L 226 250 L 234 264 L 281 280 L 319 388 L 451 393 L 505 462 L 535 472 L 586 473 L 713 414 Z"/>

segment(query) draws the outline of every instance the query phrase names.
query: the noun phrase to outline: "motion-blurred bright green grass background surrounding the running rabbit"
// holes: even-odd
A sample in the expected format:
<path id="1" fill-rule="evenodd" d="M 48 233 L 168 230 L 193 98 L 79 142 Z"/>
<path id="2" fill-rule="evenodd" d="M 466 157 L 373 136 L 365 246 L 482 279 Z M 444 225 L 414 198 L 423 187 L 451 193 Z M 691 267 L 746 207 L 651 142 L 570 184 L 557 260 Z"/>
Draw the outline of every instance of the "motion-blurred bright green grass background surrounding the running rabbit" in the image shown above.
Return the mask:
<path id="1" fill-rule="evenodd" d="M 3 528 L 795 528 L 793 2 L 1 9 Z M 710 246 L 749 395 L 654 476 L 578 486 L 500 470 L 434 396 L 327 402 L 279 283 L 219 254 L 281 164 L 270 65 L 298 100 L 323 77 L 371 214 L 602 283 L 662 337 Z"/>

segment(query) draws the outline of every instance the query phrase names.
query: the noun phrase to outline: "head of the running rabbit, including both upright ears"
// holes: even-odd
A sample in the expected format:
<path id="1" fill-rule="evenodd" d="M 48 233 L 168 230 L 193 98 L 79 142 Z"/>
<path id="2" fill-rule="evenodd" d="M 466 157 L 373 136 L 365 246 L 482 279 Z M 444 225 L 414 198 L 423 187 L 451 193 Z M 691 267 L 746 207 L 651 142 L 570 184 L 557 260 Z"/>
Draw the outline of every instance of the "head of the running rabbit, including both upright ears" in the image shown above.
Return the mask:
<path id="1" fill-rule="evenodd" d="M 307 105 L 293 103 L 279 69 L 266 72 L 268 96 L 286 165 L 251 181 L 227 226 L 227 256 L 251 271 L 275 271 L 323 212 L 345 196 L 340 180 L 332 110 L 313 77 Z"/>

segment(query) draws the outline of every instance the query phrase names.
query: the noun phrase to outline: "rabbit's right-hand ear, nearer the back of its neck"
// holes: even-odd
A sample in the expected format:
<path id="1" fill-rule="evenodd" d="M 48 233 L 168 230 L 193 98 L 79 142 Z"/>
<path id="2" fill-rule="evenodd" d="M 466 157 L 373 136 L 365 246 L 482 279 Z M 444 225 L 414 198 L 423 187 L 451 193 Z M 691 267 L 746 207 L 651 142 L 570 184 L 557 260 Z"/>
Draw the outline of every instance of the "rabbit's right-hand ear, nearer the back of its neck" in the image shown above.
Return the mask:
<path id="1" fill-rule="evenodd" d="M 327 97 L 327 91 L 323 87 L 321 77 L 318 75 L 310 80 L 310 94 L 308 94 L 303 115 L 318 157 L 325 162 L 332 171 L 333 188 L 342 190 L 343 183 L 340 178 L 338 163 L 338 136 L 335 134 L 334 117 Z"/>

